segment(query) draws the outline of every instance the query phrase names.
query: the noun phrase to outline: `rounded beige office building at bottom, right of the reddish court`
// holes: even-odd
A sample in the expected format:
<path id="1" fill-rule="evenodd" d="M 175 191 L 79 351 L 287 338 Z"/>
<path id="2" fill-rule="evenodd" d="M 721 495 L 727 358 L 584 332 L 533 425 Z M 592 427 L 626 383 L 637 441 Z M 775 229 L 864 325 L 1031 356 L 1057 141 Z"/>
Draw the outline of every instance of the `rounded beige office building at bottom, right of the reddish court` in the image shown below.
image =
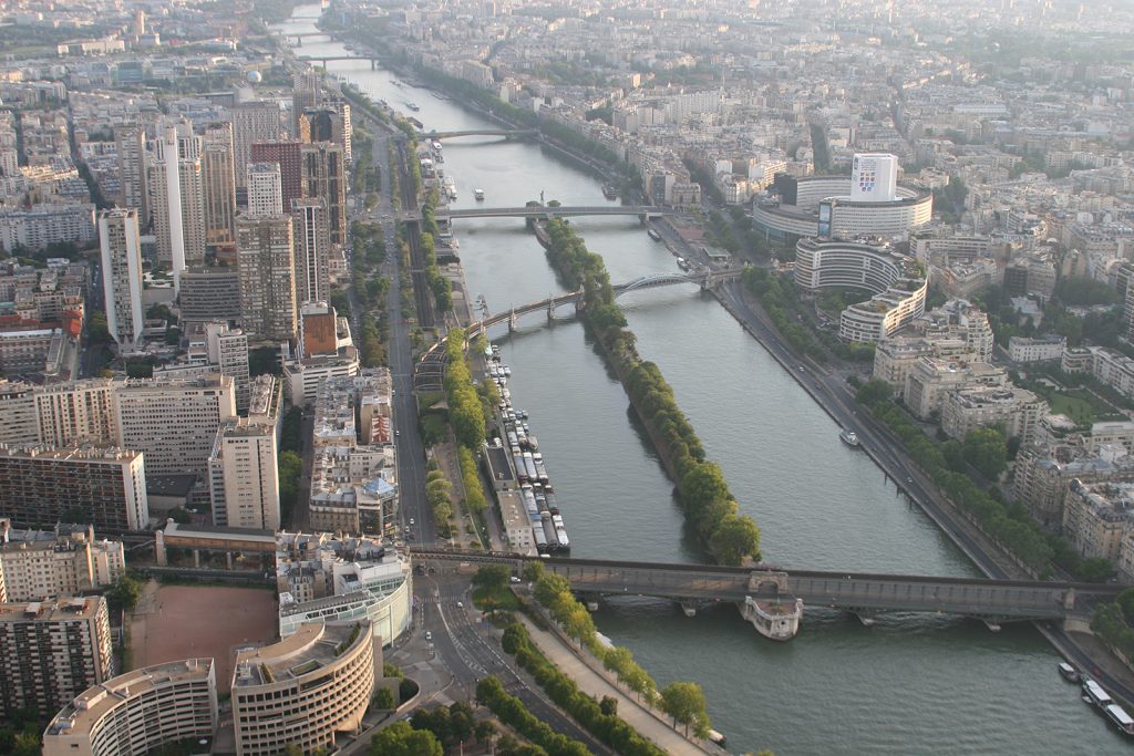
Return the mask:
<path id="1" fill-rule="evenodd" d="M 240 652 L 232 672 L 237 756 L 295 746 L 335 750 L 338 732 L 357 731 L 374 693 L 381 652 L 366 620 L 310 622 L 277 644 Z M 375 659 L 375 653 L 378 657 Z"/>

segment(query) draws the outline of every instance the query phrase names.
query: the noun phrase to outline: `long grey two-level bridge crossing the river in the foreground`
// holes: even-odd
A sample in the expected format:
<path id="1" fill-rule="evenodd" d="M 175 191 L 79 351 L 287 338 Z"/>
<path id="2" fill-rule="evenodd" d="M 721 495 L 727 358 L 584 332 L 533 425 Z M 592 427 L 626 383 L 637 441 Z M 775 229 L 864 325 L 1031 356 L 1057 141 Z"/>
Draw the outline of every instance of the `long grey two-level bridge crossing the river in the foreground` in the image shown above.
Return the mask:
<path id="1" fill-rule="evenodd" d="M 416 559 L 507 563 L 514 570 L 538 561 L 584 596 L 657 596 L 692 608 L 734 602 L 816 606 L 847 611 L 870 625 L 889 612 L 968 617 L 993 630 L 1002 622 L 1089 619 L 1100 601 L 1114 601 L 1117 585 L 941 578 L 913 575 L 822 572 L 708 564 L 654 564 L 593 559 L 536 559 L 505 553 L 462 553 L 414 546 Z M 593 603 L 593 602 L 592 602 Z M 695 610 L 694 610 L 695 611 Z M 755 623 L 755 622 L 754 622 Z M 758 626 L 759 629 L 759 626 Z M 792 634 L 794 635 L 794 632 Z"/>

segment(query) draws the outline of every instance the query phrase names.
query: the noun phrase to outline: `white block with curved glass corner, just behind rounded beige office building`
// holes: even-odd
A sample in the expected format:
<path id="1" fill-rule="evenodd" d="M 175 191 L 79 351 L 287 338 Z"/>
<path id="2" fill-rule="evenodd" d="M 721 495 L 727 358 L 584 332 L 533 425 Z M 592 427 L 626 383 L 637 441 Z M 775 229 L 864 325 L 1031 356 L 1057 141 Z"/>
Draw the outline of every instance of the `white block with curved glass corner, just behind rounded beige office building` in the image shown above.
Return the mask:
<path id="1" fill-rule="evenodd" d="M 281 638 L 306 622 L 359 617 L 371 622 L 381 645 L 409 629 L 414 588 L 408 554 L 378 540 L 330 533 L 279 533 L 276 540 Z"/>

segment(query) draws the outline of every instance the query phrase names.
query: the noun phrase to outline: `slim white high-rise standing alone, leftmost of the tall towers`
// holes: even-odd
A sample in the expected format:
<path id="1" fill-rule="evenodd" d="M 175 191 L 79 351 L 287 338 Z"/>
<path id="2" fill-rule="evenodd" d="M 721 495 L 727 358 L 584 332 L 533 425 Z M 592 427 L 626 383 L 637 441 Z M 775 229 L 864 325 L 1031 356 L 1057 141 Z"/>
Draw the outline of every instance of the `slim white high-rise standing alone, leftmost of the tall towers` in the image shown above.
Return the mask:
<path id="1" fill-rule="evenodd" d="M 142 307 L 142 243 L 136 210 L 108 210 L 99 215 L 102 249 L 102 288 L 107 329 L 124 354 L 142 346 L 145 311 Z"/>

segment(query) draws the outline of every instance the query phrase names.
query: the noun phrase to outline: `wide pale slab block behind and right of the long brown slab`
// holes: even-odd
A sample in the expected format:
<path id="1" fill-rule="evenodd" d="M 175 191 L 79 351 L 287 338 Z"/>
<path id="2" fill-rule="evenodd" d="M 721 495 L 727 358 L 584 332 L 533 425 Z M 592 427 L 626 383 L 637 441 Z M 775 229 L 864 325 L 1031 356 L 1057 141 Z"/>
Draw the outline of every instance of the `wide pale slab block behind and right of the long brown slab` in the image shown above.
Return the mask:
<path id="1" fill-rule="evenodd" d="M 217 431 L 236 417 L 228 375 L 119 381 L 113 392 L 118 445 L 145 453 L 150 475 L 204 474 Z"/>

